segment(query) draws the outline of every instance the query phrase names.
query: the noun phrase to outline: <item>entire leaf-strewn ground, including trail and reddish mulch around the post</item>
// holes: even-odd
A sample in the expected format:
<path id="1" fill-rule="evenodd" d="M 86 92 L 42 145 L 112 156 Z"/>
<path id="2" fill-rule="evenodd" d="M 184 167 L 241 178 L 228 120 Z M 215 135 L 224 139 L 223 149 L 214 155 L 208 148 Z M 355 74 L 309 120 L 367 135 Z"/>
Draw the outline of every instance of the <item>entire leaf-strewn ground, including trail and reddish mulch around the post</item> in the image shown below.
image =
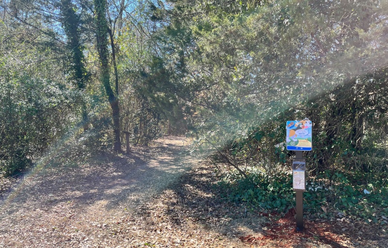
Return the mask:
<path id="1" fill-rule="evenodd" d="M 130 155 L 1 179 L 0 248 L 5 247 L 388 247 L 387 227 L 271 216 L 220 198 L 206 161 L 165 137 Z M 12 192 L 6 188 L 14 185 Z"/>

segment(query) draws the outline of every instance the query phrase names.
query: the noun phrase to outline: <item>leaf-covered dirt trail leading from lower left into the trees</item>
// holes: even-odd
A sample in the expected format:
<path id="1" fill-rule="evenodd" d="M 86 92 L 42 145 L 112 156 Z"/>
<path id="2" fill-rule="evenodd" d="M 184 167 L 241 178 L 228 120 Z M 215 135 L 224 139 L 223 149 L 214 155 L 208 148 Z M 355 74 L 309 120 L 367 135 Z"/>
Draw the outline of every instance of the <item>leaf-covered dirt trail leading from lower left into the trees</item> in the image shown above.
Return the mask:
<path id="1" fill-rule="evenodd" d="M 190 156 L 180 156 L 187 144 L 184 138 L 165 137 L 128 156 L 100 155 L 26 177 L 1 202 L 0 247 L 175 247 L 180 241 L 168 238 L 174 232 L 169 221 L 160 219 L 163 228 L 155 232 L 144 225 L 156 224 L 163 211 L 162 191 L 168 194 L 168 187 L 195 164 Z M 147 219 L 147 211 L 154 211 L 154 220 Z M 191 227 L 187 231 L 200 233 Z M 149 238 L 158 232 L 156 240 Z M 194 244 L 205 243 L 193 239 Z"/>

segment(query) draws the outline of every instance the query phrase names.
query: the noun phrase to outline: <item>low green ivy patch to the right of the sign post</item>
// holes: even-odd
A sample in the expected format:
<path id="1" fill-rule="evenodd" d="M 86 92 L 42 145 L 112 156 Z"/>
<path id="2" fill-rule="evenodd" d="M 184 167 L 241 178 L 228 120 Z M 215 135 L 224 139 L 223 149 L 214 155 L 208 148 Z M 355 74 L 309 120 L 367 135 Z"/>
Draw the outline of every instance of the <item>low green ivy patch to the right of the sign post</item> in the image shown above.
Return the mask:
<path id="1" fill-rule="evenodd" d="M 372 180 L 371 176 L 374 177 Z M 368 181 L 365 181 L 367 178 Z M 334 217 L 339 211 L 344 216 L 366 222 L 387 224 L 382 218 L 388 215 L 386 178 L 387 175 L 382 179 L 359 171 L 324 171 L 307 184 L 304 197 L 308 211 L 320 217 Z M 331 211 L 326 212 L 325 208 L 326 211 L 323 212 L 322 207 Z"/>

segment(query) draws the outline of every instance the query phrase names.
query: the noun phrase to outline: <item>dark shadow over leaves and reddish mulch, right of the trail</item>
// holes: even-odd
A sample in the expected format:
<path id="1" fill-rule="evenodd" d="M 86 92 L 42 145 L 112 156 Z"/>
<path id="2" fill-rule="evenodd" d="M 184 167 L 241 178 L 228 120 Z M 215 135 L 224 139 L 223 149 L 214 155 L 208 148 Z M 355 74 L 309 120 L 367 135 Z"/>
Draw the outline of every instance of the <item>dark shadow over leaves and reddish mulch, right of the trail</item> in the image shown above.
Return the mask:
<path id="1" fill-rule="evenodd" d="M 275 216 L 252 207 L 248 210 L 244 202 L 222 199 L 223 190 L 211 166 L 197 164 L 155 200 L 163 202 L 164 207 L 148 204 L 139 212 L 150 220 L 165 216 L 167 219 L 162 222 L 170 223 L 174 230 L 184 230 L 183 226 L 195 223 L 205 231 L 218 233 L 218 239 L 238 238 L 242 241 L 236 242 L 238 247 L 387 247 L 383 236 L 371 232 L 368 238 L 359 239 L 357 228 L 350 230 L 338 222 L 305 219 L 304 232 L 297 233 L 294 209 Z"/>

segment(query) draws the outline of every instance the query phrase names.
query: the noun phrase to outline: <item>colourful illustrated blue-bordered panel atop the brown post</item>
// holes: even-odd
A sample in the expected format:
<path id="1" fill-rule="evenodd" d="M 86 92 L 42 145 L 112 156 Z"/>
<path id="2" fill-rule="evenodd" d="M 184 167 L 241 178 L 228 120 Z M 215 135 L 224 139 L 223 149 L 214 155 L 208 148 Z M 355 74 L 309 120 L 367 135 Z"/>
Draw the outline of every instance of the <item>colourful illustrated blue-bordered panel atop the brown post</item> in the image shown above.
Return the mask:
<path id="1" fill-rule="evenodd" d="M 287 150 L 311 151 L 312 123 L 308 119 L 303 121 L 287 121 Z"/>

